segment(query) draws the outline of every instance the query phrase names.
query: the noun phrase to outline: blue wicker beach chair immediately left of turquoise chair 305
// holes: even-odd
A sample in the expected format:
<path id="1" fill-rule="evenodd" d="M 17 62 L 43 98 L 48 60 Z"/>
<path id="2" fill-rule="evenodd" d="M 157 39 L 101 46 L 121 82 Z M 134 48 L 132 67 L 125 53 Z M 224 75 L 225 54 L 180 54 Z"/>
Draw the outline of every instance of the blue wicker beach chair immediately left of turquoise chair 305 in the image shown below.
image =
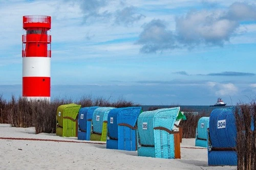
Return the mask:
<path id="1" fill-rule="evenodd" d="M 108 115 L 107 149 L 137 150 L 136 123 L 141 107 L 112 109 Z"/>

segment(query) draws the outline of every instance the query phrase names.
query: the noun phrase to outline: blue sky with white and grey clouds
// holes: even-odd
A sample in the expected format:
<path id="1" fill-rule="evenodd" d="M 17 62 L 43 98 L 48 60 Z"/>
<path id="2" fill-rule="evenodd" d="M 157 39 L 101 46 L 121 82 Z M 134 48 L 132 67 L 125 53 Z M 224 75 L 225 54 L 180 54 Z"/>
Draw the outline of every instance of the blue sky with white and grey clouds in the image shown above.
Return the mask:
<path id="1" fill-rule="evenodd" d="M 227 105 L 256 94 L 255 1 L 1 0 L 0 94 L 22 95 L 24 15 L 52 17 L 51 97 Z"/>

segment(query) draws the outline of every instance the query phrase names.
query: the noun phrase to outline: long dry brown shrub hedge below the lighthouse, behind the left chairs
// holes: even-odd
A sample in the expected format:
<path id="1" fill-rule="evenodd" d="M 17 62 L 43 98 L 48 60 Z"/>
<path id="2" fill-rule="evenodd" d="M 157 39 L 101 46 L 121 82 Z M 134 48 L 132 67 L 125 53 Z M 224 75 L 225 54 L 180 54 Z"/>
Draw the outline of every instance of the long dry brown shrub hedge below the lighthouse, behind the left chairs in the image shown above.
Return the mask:
<path id="1" fill-rule="evenodd" d="M 79 101 L 74 102 L 72 99 L 54 99 L 48 100 L 31 100 L 26 98 L 15 99 L 6 102 L 0 95 L 0 123 L 11 124 L 12 127 L 35 127 L 38 133 L 55 133 L 56 132 L 56 112 L 57 108 L 63 104 L 76 103 L 81 107 L 101 106 L 101 107 L 129 107 L 138 106 L 132 102 L 126 102 L 119 99 L 116 102 L 109 102 L 103 98 L 91 99 L 91 96 L 84 96 Z"/>

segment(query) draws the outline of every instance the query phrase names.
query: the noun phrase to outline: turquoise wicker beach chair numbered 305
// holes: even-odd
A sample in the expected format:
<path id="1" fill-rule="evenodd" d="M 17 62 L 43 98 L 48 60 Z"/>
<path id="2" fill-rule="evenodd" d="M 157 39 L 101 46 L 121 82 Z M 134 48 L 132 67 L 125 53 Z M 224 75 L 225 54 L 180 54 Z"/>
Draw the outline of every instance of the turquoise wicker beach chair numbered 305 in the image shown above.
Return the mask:
<path id="1" fill-rule="evenodd" d="M 138 156 L 180 158 L 179 132 L 173 131 L 180 107 L 142 112 L 138 117 Z"/>

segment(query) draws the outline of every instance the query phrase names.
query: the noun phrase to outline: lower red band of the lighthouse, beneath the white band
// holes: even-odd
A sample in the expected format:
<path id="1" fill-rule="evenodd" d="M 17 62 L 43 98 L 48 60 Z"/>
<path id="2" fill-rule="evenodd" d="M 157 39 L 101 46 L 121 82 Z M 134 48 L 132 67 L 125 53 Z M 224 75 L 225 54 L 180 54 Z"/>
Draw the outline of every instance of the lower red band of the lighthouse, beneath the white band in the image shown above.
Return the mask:
<path id="1" fill-rule="evenodd" d="M 24 97 L 50 97 L 50 77 L 23 77 Z"/>

